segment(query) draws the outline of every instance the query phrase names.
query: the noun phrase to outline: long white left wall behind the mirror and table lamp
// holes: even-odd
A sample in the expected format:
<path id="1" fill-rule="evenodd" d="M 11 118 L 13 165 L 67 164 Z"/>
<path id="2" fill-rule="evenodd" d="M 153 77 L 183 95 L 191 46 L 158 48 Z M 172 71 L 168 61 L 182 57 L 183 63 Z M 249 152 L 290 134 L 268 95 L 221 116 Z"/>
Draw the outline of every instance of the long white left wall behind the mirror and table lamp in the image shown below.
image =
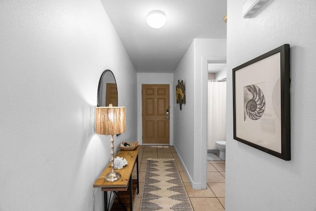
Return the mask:
<path id="1" fill-rule="evenodd" d="M 137 78 L 102 4 L 1 0 L 0 29 L 0 210 L 103 210 L 92 187 L 111 157 L 94 131 L 99 78 L 117 79 L 124 140 L 137 137 Z"/>

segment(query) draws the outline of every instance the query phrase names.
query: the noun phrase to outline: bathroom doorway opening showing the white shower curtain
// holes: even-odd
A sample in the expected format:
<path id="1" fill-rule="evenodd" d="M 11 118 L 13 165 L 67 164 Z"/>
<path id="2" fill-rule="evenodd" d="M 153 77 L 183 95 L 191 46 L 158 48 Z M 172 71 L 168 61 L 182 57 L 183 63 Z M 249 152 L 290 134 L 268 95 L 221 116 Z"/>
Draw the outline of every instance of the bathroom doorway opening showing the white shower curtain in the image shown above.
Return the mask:
<path id="1" fill-rule="evenodd" d="M 208 61 L 207 160 L 220 160 L 216 141 L 226 141 L 226 61 Z M 215 156 L 214 156 L 215 155 Z"/>

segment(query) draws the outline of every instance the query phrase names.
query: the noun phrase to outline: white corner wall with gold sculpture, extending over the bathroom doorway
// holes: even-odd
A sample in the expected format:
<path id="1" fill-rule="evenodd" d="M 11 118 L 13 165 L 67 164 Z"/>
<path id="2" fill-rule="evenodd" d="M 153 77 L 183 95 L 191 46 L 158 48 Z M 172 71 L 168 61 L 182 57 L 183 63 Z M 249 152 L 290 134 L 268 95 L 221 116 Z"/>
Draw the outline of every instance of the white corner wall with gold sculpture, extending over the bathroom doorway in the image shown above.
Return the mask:
<path id="1" fill-rule="evenodd" d="M 186 91 L 174 112 L 174 145 L 194 189 L 206 188 L 207 63 L 214 60 L 226 60 L 226 39 L 195 39 L 173 75 Z"/>

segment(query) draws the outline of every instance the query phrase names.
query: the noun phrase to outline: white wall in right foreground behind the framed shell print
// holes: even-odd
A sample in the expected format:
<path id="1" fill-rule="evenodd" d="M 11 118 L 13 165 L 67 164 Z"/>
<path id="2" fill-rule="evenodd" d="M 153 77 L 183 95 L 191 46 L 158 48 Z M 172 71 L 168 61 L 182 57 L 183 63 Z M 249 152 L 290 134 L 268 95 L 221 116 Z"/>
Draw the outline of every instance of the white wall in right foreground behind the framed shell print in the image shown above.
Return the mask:
<path id="1" fill-rule="evenodd" d="M 228 0 L 226 210 L 316 210 L 316 1 L 270 0 L 242 18 Z M 233 139 L 232 69 L 290 44 L 291 161 Z"/>

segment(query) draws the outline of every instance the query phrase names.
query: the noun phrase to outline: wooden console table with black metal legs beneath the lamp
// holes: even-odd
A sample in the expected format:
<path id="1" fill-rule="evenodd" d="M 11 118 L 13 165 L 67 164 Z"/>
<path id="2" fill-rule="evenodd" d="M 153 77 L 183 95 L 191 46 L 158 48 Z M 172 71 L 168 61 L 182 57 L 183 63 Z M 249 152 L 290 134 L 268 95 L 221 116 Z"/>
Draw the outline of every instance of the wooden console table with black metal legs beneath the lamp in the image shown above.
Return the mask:
<path id="1" fill-rule="evenodd" d="M 133 191 L 132 191 L 132 171 L 136 163 L 137 168 L 137 195 L 139 194 L 139 178 L 138 178 L 138 150 L 140 146 L 137 146 L 133 150 L 119 150 L 115 157 L 125 158 L 127 165 L 123 169 L 115 169 L 121 174 L 121 178 L 115 182 L 108 182 L 104 180 L 105 175 L 111 171 L 111 162 L 103 170 L 98 179 L 94 182 L 94 188 L 101 188 L 101 191 L 104 191 L 104 210 L 108 211 L 108 196 L 107 191 L 112 191 L 115 197 L 118 199 L 118 202 L 126 210 L 125 206 L 121 202 L 118 192 L 127 191 L 129 188 L 129 207 L 130 211 L 133 210 Z"/>

